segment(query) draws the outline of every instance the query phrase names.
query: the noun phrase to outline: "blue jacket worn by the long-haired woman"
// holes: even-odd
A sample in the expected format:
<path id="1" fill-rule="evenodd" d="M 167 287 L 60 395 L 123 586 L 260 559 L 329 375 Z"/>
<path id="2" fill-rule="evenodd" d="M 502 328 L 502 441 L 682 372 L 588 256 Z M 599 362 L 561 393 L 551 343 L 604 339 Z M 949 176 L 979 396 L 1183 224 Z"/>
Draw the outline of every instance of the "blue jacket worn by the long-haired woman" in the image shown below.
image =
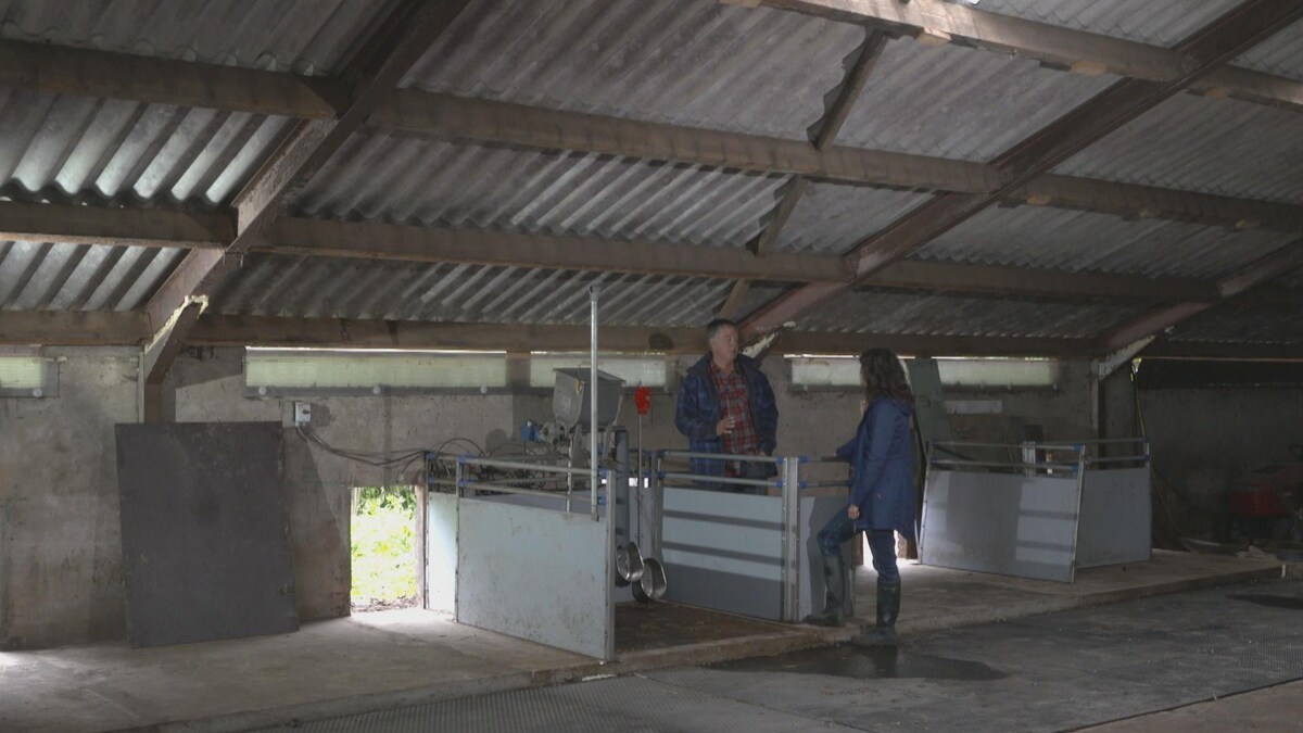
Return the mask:
<path id="1" fill-rule="evenodd" d="M 860 507 L 856 530 L 895 530 L 913 537 L 913 408 L 878 398 L 864 412 L 855 438 L 837 449 L 851 462 L 851 503 Z"/>

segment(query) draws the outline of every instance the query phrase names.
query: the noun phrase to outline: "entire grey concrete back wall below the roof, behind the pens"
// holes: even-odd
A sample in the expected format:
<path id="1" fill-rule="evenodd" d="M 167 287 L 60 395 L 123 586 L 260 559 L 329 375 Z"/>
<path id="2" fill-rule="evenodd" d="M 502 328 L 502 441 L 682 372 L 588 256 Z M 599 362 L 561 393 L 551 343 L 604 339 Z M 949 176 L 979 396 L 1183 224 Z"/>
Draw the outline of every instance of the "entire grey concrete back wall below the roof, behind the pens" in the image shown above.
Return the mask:
<path id="1" fill-rule="evenodd" d="M 38 647 L 125 636 L 113 425 L 138 420 L 132 350 L 47 350 L 64 356 L 60 396 L 0 399 L 0 646 Z M 681 374 L 694 359 L 678 360 Z M 270 420 L 288 424 L 291 400 L 244 395 L 242 350 L 182 355 L 169 377 L 181 421 Z M 853 391 L 799 391 L 780 356 L 765 366 L 779 411 L 779 451 L 827 455 L 859 421 Z M 1050 440 L 1089 429 L 1089 383 L 1070 366 L 1057 390 L 981 391 L 951 398 L 998 399 L 998 416 L 956 419 L 964 438 L 997 438 L 1010 417 L 1044 425 Z M 551 416 L 538 393 L 309 398 L 313 425 L 330 443 L 371 451 L 433 447 L 466 437 L 493 447 L 526 419 Z M 675 391 L 653 398 L 644 447 L 681 447 Z M 622 423 L 637 438 L 627 399 Z M 380 470 L 332 455 L 285 433 L 285 486 L 298 612 L 305 620 L 348 613 L 349 489 L 396 484 Z"/>

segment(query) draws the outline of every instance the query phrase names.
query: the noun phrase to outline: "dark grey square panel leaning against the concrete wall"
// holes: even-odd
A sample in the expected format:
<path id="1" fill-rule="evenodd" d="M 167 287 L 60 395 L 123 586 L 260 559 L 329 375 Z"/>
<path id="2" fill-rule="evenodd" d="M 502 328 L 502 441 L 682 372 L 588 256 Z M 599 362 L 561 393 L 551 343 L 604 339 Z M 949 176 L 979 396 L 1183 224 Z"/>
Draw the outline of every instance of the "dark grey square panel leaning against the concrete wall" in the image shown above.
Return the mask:
<path id="1" fill-rule="evenodd" d="M 117 425 L 133 647 L 298 629 L 276 423 Z"/>

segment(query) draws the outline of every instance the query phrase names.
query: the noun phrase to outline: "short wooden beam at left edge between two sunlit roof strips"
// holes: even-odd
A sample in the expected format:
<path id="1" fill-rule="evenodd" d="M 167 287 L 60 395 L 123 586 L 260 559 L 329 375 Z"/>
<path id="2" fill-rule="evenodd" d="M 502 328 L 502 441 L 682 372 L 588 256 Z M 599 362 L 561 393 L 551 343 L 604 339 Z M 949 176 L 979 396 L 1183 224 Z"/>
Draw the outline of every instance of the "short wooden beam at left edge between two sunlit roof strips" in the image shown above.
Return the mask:
<path id="1" fill-rule="evenodd" d="M 113 247 L 225 247 L 235 226 L 224 214 L 0 202 L 0 239 Z"/>

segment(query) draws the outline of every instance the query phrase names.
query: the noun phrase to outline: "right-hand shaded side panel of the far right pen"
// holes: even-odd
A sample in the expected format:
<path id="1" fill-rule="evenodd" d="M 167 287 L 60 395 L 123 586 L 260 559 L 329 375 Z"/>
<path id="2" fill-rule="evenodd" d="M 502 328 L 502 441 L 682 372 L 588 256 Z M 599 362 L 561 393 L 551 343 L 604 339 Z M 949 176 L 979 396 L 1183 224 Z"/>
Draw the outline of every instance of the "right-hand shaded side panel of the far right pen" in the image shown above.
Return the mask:
<path id="1" fill-rule="evenodd" d="M 1149 468 L 1087 471 L 1076 566 L 1140 562 L 1151 556 Z"/>

